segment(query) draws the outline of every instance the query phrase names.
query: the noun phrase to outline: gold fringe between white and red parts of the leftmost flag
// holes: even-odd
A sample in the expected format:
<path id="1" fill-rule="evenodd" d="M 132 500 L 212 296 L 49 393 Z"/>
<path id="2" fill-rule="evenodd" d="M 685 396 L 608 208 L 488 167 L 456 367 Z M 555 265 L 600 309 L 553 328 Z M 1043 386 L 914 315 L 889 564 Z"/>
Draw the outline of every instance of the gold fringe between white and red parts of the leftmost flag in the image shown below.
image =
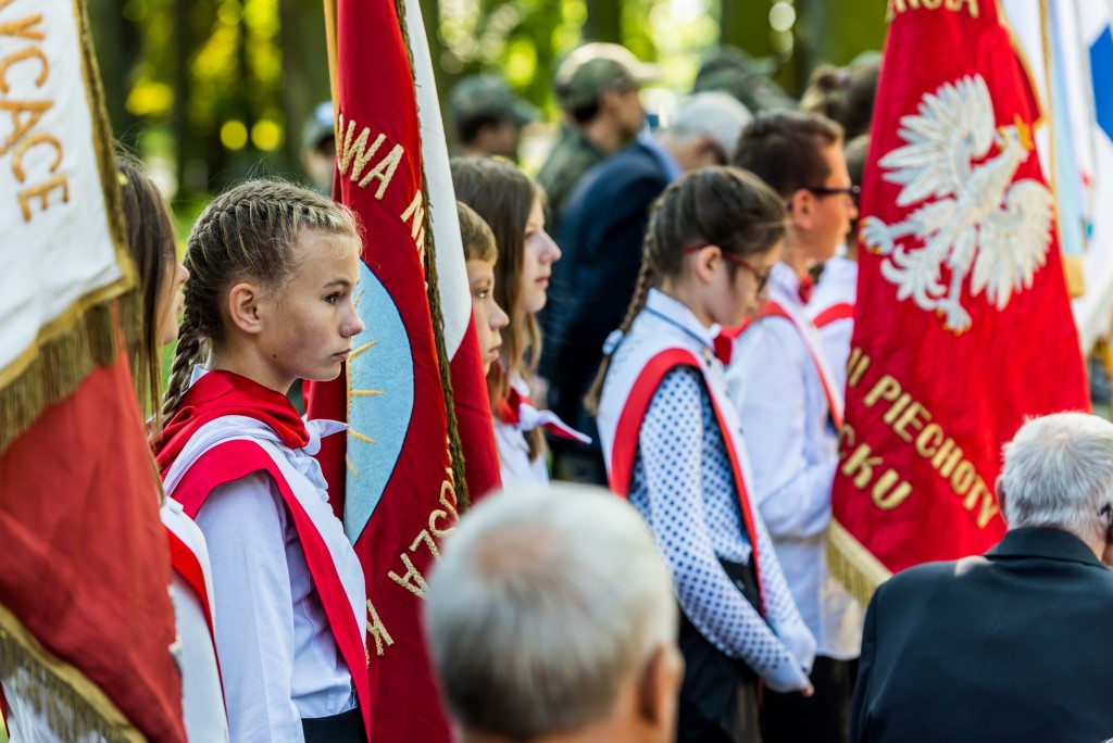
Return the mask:
<path id="1" fill-rule="evenodd" d="M 117 300 L 102 301 L 76 313 L 68 327 L 32 348 L 26 368 L 0 389 L 0 454 L 27 430 L 50 405 L 73 394 L 98 366 L 116 360 L 118 328 L 137 328 L 140 298 L 128 291 Z M 125 338 L 131 340 L 131 338 Z"/>

